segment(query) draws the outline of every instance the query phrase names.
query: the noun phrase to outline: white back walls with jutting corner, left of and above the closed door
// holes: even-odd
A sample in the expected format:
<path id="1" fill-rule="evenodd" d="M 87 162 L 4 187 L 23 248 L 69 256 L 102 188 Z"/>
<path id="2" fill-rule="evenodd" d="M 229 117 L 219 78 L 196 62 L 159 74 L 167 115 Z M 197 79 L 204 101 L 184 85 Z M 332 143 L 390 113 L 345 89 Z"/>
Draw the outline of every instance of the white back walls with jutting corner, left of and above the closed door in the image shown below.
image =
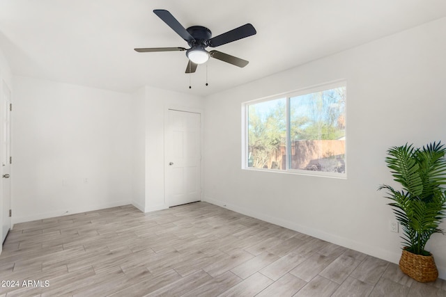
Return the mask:
<path id="1" fill-rule="evenodd" d="M 168 109 L 201 112 L 201 97 L 18 76 L 14 86 L 14 223 L 128 203 L 168 207 L 164 118 Z"/>

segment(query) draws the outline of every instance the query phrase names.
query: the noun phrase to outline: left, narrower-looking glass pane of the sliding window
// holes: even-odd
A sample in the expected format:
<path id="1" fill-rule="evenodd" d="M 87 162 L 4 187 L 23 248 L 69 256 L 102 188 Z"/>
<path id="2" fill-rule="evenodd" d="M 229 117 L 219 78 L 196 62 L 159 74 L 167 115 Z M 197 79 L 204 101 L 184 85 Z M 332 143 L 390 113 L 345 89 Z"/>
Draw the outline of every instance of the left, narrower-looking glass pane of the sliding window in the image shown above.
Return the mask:
<path id="1" fill-rule="evenodd" d="M 286 98 L 248 106 L 248 167 L 286 169 Z"/>

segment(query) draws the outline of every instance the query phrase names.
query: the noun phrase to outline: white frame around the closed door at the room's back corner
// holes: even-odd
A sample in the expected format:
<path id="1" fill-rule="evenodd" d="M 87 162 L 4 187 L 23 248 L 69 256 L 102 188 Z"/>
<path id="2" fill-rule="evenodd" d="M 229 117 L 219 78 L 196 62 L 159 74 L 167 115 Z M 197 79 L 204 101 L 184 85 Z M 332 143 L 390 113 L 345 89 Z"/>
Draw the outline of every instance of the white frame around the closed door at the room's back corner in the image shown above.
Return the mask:
<path id="1" fill-rule="evenodd" d="M 179 106 L 179 105 L 169 105 L 164 109 L 164 181 L 163 181 L 163 191 L 164 191 L 164 208 L 169 208 L 169 198 L 167 197 L 166 192 L 166 179 L 167 179 L 167 170 L 169 170 L 169 160 L 167 159 L 167 155 L 165 154 L 167 148 L 167 136 L 169 135 L 168 124 L 169 124 L 169 111 L 183 111 L 185 113 L 199 113 L 200 115 L 200 201 L 203 201 L 203 122 L 204 122 L 204 113 L 203 109 L 199 109 L 191 106 Z"/>

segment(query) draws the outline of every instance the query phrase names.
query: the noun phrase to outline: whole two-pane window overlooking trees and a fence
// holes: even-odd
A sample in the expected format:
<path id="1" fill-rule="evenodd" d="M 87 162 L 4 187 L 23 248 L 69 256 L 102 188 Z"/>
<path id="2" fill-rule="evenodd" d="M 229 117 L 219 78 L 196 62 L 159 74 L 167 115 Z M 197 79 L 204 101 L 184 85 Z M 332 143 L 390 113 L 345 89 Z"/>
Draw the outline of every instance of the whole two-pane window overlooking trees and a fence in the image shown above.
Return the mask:
<path id="1" fill-rule="evenodd" d="M 244 168 L 346 176 L 345 82 L 244 108 Z"/>

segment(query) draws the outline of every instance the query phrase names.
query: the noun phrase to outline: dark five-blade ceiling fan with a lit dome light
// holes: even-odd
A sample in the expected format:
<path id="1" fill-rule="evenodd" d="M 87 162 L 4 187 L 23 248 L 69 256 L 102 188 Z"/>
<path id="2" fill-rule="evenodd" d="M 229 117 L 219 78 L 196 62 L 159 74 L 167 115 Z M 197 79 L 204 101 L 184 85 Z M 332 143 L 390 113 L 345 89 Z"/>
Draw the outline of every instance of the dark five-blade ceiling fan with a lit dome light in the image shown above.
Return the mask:
<path id="1" fill-rule="evenodd" d="M 149 47 L 142 49 L 134 49 L 140 53 L 153 51 L 186 51 L 186 56 L 189 58 L 187 63 L 186 73 L 193 73 L 197 70 L 197 66 L 206 63 L 209 58 L 216 58 L 217 60 L 236 65 L 238 67 L 245 67 L 249 62 L 229 54 L 224 54 L 221 51 L 206 51 L 206 47 L 218 47 L 226 43 L 233 42 L 242 38 L 256 34 L 256 29 L 252 24 L 245 24 L 236 29 L 223 33 L 212 38 L 212 32 L 203 26 L 190 26 L 185 29 L 176 18 L 164 9 L 155 9 L 153 13 L 160 17 L 167 26 L 171 27 L 181 38 L 183 38 L 189 45 L 189 49 L 184 47 Z"/>

